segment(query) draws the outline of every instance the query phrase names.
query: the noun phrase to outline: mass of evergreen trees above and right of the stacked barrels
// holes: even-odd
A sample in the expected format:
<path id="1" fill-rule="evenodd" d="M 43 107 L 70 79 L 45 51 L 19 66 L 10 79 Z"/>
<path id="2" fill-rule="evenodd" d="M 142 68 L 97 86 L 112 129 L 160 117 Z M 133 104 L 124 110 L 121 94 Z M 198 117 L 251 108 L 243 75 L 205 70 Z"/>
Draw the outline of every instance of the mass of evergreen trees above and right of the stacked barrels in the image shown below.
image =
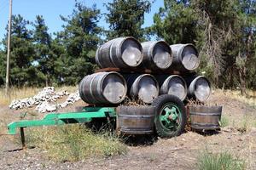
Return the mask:
<path id="1" fill-rule="evenodd" d="M 255 1 L 165 0 L 150 30 L 170 44 L 194 43 L 200 71 L 222 88 L 255 88 Z"/>

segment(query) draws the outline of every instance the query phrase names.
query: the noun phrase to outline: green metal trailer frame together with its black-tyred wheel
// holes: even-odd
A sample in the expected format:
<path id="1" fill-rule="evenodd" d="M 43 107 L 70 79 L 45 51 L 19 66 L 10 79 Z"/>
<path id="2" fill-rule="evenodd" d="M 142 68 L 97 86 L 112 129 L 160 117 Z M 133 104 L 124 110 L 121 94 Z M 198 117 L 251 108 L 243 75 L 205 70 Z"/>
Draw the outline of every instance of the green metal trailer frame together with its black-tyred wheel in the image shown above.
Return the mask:
<path id="1" fill-rule="evenodd" d="M 156 112 L 154 113 L 155 132 L 160 137 L 171 138 L 183 132 L 183 129 L 187 122 L 187 115 L 186 108 L 184 107 L 183 102 L 180 99 L 173 95 L 164 94 L 160 95 L 157 99 L 155 99 L 152 105 L 155 107 L 154 111 Z M 77 112 L 49 113 L 41 120 L 21 120 L 18 122 L 11 122 L 8 125 L 8 133 L 16 134 L 17 129 L 20 128 L 21 143 L 23 148 L 26 148 L 24 135 L 25 127 L 56 126 L 70 123 L 84 123 L 91 122 L 94 118 L 106 118 L 106 121 L 110 123 L 111 120 L 113 118 L 116 118 L 117 116 L 116 110 L 117 107 L 86 106 L 82 109 L 82 111 Z M 131 112 L 133 114 L 134 111 Z M 127 117 L 131 118 L 131 115 Z M 116 120 L 116 122 L 117 126 L 119 127 L 119 120 Z M 134 124 L 132 119 L 131 124 Z M 126 125 L 124 125 L 124 127 L 125 126 Z M 177 128 L 177 126 L 180 127 Z"/>

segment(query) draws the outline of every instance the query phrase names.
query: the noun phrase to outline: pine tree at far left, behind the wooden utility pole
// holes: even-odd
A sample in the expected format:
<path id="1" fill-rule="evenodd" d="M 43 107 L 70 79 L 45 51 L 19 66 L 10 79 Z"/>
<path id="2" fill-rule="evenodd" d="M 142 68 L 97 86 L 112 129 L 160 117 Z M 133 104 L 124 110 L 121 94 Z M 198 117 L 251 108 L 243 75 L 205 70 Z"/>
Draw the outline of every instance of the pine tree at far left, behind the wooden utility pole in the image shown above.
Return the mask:
<path id="1" fill-rule="evenodd" d="M 32 44 L 32 31 L 27 29 L 29 24 L 30 22 L 24 20 L 20 14 L 13 16 L 10 54 L 11 85 L 22 86 L 36 84 L 34 79 L 36 71 L 32 65 L 35 51 Z M 6 40 L 7 35 L 3 38 L 3 48 L 5 52 L 7 51 Z M 3 60 L 6 60 L 6 58 Z M 3 70 L 2 75 L 5 75 L 5 73 L 6 71 Z"/>

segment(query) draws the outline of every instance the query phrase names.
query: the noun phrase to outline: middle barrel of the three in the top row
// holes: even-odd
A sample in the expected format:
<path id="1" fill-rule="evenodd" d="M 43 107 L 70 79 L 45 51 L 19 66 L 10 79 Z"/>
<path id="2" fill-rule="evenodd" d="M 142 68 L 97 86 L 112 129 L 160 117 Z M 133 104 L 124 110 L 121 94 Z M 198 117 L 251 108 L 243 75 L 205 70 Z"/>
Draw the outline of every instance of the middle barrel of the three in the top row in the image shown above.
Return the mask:
<path id="1" fill-rule="evenodd" d="M 172 65 L 172 49 L 166 42 L 143 42 L 142 46 L 144 67 L 166 70 Z"/>

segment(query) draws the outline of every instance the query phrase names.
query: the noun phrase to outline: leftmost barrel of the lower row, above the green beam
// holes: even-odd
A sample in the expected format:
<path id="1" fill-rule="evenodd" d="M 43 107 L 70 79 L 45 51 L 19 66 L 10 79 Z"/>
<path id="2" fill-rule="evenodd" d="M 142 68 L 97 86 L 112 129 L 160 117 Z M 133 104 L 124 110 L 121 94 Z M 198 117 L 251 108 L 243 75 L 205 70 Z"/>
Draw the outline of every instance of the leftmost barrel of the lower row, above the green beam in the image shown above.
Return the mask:
<path id="1" fill-rule="evenodd" d="M 119 104 L 125 99 L 127 85 L 117 72 L 98 72 L 79 83 L 79 95 L 88 104 Z"/>

